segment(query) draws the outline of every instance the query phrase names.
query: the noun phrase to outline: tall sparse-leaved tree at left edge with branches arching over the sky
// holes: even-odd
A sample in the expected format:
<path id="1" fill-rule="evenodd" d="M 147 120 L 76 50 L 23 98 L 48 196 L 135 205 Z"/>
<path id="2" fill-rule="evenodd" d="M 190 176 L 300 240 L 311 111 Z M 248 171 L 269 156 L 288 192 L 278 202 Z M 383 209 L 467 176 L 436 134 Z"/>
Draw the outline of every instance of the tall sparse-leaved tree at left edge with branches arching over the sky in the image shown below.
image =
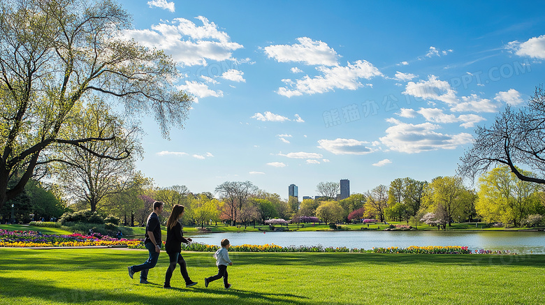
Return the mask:
<path id="1" fill-rule="evenodd" d="M 154 115 L 165 137 L 171 126 L 183 127 L 192 98 L 175 87 L 175 62 L 124 40 L 130 20 L 110 0 L 0 1 L 0 208 L 52 162 L 53 145 L 108 157 L 88 145 L 117 134 L 67 132 L 78 105 L 94 96 L 131 117 Z"/>

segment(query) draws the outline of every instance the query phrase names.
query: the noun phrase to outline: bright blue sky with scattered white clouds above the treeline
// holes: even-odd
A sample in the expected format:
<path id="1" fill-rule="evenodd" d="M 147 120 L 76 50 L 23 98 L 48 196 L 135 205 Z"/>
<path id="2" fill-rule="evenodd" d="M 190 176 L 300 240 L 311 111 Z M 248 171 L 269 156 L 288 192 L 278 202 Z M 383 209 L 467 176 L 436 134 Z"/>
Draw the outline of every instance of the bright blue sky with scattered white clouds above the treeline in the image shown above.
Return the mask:
<path id="1" fill-rule="evenodd" d="M 196 97 L 170 140 L 143 121 L 137 166 L 161 187 L 301 199 L 453 175 L 474 128 L 545 80 L 542 1 L 119 2 Z"/>

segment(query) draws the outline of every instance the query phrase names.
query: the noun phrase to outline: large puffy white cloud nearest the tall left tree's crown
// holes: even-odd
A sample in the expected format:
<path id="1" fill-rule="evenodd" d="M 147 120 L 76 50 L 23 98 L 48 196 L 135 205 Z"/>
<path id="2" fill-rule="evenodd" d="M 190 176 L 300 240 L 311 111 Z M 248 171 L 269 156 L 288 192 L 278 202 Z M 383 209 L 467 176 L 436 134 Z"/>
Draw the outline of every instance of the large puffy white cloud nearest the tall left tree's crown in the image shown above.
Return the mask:
<path id="1" fill-rule="evenodd" d="M 122 37 L 134 38 L 146 47 L 157 47 L 171 54 L 181 66 L 206 66 L 207 60 L 235 61 L 232 52 L 242 48 L 238 43 L 219 31 L 214 22 L 203 16 L 196 17 L 201 26 L 194 22 L 175 18 L 172 22 L 153 25 L 151 29 L 131 29 L 122 31 Z"/>

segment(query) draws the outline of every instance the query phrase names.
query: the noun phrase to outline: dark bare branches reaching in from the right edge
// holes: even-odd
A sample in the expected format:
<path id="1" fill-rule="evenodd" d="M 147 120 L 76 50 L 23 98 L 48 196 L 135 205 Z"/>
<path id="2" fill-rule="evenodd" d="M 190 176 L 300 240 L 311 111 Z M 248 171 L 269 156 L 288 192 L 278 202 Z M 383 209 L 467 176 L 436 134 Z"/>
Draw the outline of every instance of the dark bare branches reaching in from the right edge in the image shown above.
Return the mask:
<path id="1" fill-rule="evenodd" d="M 529 176 L 518 168 L 545 173 L 545 91 L 535 89 L 528 107 L 508 106 L 490 127 L 477 127 L 477 137 L 460 158 L 458 174 L 474 179 L 495 165 L 507 165 L 518 179 L 545 184 L 542 177 Z"/>

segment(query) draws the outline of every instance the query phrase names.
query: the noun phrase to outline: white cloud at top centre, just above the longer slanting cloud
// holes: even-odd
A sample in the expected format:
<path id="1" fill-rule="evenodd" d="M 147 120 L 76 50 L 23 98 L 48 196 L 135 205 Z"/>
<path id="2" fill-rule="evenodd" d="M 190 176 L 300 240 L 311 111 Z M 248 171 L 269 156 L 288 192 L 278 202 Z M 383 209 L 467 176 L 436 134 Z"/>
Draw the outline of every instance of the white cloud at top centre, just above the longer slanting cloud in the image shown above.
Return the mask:
<path id="1" fill-rule="evenodd" d="M 263 50 L 269 58 L 281 63 L 297 61 L 307 65 L 337 65 L 339 55 L 327 43 L 307 37 L 297 38 L 297 41 L 299 43 L 293 45 L 269 45 Z"/>

